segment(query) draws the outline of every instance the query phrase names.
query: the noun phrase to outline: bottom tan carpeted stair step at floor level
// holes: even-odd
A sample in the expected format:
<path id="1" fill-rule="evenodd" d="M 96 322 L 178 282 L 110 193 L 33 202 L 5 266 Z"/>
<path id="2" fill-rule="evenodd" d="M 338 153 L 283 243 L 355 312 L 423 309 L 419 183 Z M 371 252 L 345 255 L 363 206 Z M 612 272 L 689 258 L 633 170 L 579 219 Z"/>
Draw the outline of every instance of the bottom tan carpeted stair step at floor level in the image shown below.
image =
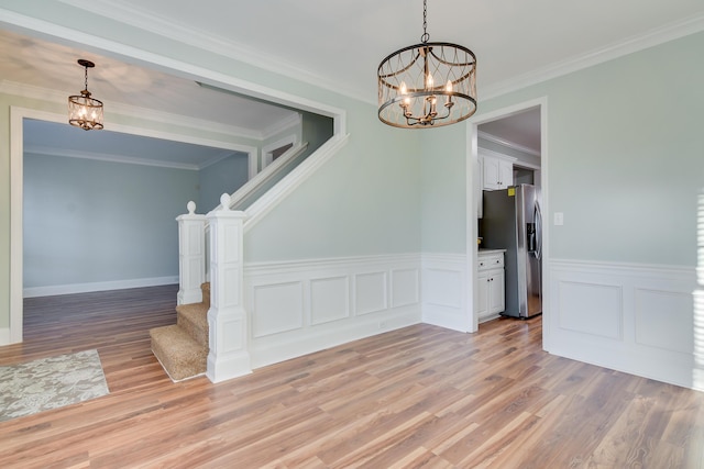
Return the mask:
<path id="1" fill-rule="evenodd" d="M 208 367 L 208 349 L 174 324 L 150 331 L 152 351 L 174 381 L 204 375 Z"/>

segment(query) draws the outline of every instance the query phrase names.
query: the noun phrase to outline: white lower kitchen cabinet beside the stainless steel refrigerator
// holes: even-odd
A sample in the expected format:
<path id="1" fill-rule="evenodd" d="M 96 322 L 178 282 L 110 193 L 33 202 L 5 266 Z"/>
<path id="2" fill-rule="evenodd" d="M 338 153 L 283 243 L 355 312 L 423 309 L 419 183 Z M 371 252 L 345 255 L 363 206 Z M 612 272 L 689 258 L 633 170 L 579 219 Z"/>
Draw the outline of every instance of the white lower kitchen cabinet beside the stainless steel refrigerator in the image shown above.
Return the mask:
<path id="1" fill-rule="evenodd" d="M 495 317 L 506 309 L 504 250 L 480 250 L 477 261 L 477 316 Z"/>

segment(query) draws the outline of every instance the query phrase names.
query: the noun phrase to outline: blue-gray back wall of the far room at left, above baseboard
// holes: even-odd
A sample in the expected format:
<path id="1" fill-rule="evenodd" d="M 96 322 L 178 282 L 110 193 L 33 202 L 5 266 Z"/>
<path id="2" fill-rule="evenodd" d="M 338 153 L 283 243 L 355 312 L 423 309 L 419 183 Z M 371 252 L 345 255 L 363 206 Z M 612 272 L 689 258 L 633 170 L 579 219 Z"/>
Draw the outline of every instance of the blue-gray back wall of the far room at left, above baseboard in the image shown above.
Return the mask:
<path id="1" fill-rule="evenodd" d="M 177 215 L 198 172 L 24 157 L 24 288 L 178 275 Z"/>

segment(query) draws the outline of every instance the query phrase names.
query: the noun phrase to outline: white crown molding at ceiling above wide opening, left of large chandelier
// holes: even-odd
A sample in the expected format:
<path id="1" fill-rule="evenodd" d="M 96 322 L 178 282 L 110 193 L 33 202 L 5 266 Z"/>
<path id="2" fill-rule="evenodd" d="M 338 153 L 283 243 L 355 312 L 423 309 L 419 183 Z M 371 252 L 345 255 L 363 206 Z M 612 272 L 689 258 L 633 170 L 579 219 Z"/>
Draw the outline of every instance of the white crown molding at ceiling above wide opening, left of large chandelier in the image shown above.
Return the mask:
<path id="1" fill-rule="evenodd" d="M 284 62 L 280 57 L 252 51 L 252 47 L 250 46 L 226 40 L 222 36 L 217 36 L 207 31 L 164 21 L 162 18 L 142 9 L 117 4 L 116 2 L 108 0 L 59 1 L 74 8 L 86 10 L 100 16 L 110 18 L 140 30 L 168 37 L 169 40 L 188 44 L 189 46 L 198 47 L 204 51 L 210 51 L 257 68 L 273 71 L 278 75 L 285 75 L 296 80 L 315 85 L 349 98 L 372 102 L 366 93 L 356 87 L 345 88 L 329 77 L 314 74 L 310 70 L 296 66 L 292 63 Z"/>

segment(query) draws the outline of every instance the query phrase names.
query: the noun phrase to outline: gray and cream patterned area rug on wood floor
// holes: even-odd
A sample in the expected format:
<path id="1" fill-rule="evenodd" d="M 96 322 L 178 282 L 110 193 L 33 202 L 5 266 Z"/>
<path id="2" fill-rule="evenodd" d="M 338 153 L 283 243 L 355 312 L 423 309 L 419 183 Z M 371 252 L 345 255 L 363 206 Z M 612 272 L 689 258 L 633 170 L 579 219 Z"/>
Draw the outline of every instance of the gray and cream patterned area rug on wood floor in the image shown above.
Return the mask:
<path id="1" fill-rule="evenodd" d="M 108 394 L 97 350 L 0 367 L 0 422 Z"/>

